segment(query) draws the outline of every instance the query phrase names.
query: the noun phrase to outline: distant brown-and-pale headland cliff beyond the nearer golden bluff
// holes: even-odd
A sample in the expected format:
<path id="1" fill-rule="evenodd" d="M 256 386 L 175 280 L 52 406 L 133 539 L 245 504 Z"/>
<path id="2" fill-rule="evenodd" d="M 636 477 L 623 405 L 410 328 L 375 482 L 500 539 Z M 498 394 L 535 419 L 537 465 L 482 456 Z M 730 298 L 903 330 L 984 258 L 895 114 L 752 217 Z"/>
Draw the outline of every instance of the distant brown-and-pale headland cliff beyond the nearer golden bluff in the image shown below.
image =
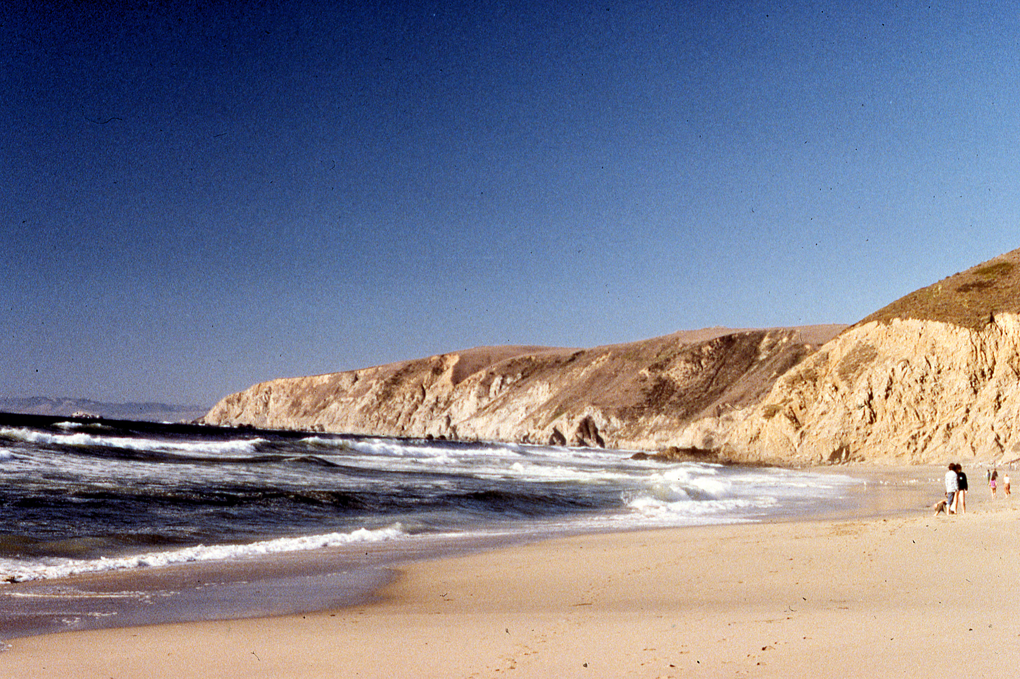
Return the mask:
<path id="1" fill-rule="evenodd" d="M 276 429 L 560 443 L 714 448 L 730 412 L 844 326 L 711 329 L 588 350 L 478 348 L 275 379 L 202 421 Z M 700 425 L 688 429 L 693 421 Z"/>

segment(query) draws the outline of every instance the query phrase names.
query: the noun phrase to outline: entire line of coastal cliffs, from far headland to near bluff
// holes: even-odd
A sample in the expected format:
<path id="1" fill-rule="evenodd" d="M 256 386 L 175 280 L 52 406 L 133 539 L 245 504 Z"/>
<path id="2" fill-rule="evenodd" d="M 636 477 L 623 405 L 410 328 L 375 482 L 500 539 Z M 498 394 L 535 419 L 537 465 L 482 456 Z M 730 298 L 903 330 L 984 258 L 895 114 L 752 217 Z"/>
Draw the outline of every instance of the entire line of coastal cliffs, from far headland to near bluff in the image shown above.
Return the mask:
<path id="1" fill-rule="evenodd" d="M 712 328 L 586 350 L 472 349 L 263 382 L 226 397 L 203 421 L 676 447 L 753 463 L 1018 461 L 1020 250 L 850 327 Z"/>

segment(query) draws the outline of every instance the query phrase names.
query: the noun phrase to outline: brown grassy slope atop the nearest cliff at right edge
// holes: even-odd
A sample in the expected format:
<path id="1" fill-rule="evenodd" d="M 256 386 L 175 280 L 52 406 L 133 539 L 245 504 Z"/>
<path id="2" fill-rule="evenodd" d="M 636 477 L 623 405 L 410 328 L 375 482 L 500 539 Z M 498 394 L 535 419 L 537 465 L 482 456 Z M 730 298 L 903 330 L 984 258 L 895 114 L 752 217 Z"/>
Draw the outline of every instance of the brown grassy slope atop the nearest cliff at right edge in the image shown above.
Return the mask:
<path id="1" fill-rule="evenodd" d="M 869 321 L 915 318 L 980 329 L 993 313 L 1001 312 L 1020 314 L 1020 249 L 914 291 L 853 327 Z"/>

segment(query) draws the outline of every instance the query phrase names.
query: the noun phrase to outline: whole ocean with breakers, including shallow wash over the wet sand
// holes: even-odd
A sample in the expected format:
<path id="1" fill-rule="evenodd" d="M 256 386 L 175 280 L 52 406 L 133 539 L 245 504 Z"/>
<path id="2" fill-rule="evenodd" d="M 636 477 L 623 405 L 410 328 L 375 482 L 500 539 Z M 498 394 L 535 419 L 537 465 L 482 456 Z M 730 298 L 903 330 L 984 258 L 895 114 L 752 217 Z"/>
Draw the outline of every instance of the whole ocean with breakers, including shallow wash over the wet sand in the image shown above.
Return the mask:
<path id="1" fill-rule="evenodd" d="M 103 613 L 96 596 L 71 605 L 84 590 L 67 576 L 205 564 L 234 577 L 220 574 L 223 608 L 203 616 L 295 612 L 353 600 L 346 590 L 370 589 L 378 569 L 400 559 L 593 531 L 852 514 L 864 494 L 864 481 L 831 471 L 631 454 L 0 414 L 0 630 L 173 620 L 194 608 L 154 615 L 152 592 L 140 590 L 111 596 L 142 602 L 142 613 L 123 602 Z M 337 576 L 328 600 L 300 602 L 290 581 L 276 603 L 224 594 L 260 564 L 323 553 L 329 568 L 319 560 L 283 579 Z"/>

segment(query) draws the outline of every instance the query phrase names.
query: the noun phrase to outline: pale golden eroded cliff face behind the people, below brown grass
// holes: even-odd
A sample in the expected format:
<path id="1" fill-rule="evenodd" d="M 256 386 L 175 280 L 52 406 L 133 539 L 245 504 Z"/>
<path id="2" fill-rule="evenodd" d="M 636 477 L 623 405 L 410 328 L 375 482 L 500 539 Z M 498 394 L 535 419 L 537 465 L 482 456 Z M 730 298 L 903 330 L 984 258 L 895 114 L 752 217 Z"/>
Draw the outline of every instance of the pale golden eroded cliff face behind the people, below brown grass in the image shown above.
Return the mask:
<path id="1" fill-rule="evenodd" d="M 916 319 L 853 327 L 735 414 L 724 435 L 724 454 L 747 461 L 1016 460 L 1020 316 L 994 314 L 979 329 Z"/>

